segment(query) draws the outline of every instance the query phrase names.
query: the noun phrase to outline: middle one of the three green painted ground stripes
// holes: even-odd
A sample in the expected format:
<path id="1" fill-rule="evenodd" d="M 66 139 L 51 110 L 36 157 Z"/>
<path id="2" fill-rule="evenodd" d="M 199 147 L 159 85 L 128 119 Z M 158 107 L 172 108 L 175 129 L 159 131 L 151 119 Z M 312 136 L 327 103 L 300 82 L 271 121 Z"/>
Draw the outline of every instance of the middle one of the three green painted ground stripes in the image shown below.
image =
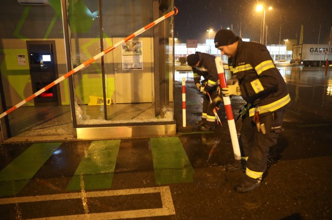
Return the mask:
<path id="1" fill-rule="evenodd" d="M 110 188 L 120 141 L 92 141 L 66 190 Z"/>

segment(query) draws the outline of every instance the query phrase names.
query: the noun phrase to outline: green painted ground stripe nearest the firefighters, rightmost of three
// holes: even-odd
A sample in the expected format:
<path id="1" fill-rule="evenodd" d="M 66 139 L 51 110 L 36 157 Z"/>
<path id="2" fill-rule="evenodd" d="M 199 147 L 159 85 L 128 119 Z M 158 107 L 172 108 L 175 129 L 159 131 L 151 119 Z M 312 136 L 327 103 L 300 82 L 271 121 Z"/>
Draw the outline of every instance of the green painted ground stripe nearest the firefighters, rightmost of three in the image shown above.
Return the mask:
<path id="1" fill-rule="evenodd" d="M 178 137 L 150 141 L 156 184 L 193 182 L 194 169 Z"/>

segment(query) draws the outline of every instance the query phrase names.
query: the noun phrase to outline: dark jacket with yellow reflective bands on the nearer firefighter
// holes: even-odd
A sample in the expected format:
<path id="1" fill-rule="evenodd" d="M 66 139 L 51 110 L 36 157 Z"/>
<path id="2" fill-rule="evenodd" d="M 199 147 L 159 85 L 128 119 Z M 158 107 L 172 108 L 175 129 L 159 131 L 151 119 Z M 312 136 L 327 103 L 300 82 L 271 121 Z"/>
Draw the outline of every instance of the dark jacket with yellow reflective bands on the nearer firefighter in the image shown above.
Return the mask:
<path id="1" fill-rule="evenodd" d="M 235 56 L 229 59 L 229 67 L 232 78 L 239 80 L 243 99 L 253 107 L 259 106 L 260 114 L 290 105 L 287 85 L 265 45 L 243 42 L 239 38 Z M 250 110 L 250 116 L 254 115 L 254 109 Z"/>

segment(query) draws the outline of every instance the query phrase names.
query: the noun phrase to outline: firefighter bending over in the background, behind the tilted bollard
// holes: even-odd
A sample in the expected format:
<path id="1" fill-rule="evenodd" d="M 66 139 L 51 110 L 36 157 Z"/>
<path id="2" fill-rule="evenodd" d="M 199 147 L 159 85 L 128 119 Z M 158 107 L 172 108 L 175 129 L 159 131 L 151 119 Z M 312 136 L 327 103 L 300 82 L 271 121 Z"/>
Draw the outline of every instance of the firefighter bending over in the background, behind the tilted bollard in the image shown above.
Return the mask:
<path id="1" fill-rule="evenodd" d="M 203 93 L 202 118 L 196 122 L 202 131 L 213 130 L 216 126 L 215 107 L 222 100 L 220 93 L 219 78 L 215 63 L 215 56 L 196 52 L 187 57 L 187 63 L 192 67 L 196 87 Z M 200 82 L 201 77 L 204 78 Z M 212 103 L 210 103 L 210 97 Z M 216 111 L 216 110 L 215 110 Z"/>

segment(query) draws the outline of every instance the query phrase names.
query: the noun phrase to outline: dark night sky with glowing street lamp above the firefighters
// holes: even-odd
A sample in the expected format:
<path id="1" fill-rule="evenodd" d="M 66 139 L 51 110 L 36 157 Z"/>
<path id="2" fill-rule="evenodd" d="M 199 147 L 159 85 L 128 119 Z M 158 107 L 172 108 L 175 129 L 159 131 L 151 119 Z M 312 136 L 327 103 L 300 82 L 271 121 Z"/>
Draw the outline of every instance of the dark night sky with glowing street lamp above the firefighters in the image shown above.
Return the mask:
<path id="1" fill-rule="evenodd" d="M 260 41 L 263 12 L 256 11 L 257 0 L 174 0 L 179 13 L 175 15 L 174 37 L 177 43 L 197 39 L 205 43 L 206 30 L 213 29 L 211 39 L 221 28 L 231 28 L 236 35 Z M 332 0 L 274 0 L 266 10 L 267 44 L 284 43 L 284 39 L 299 42 L 303 25 L 303 43 L 328 44 L 332 26 Z M 281 34 L 280 34 L 281 26 Z M 264 37 L 265 38 L 265 37 Z M 332 46 L 332 45 L 331 45 Z"/>

